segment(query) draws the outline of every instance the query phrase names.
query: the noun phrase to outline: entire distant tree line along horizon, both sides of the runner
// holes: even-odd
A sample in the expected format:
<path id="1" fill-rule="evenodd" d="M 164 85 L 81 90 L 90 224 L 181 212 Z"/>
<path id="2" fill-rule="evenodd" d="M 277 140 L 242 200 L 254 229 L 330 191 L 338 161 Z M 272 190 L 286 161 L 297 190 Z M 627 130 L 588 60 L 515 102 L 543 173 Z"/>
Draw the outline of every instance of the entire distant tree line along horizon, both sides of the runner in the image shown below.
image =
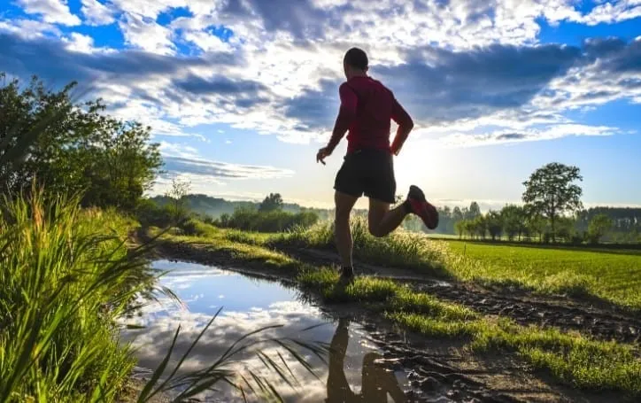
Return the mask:
<path id="1" fill-rule="evenodd" d="M 414 215 L 407 216 L 403 227 L 416 232 L 458 235 L 466 239 L 571 244 L 641 241 L 641 209 L 583 209 L 580 201 L 582 190 L 575 188 L 573 183 L 579 178 L 575 167 L 548 164 L 537 170 L 529 181 L 523 182 L 526 186 L 523 198 L 530 200 L 529 202 L 505 205 L 499 210 L 486 213 L 481 211 L 475 201 L 462 208 L 443 206 L 438 207 L 440 222 L 436 231 L 426 229 Z M 532 186 L 534 190 L 530 189 Z M 399 201 L 401 199 L 402 197 Z M 171 206 L 175 203 L 175 199 L 169 194 L 151 200 L 158 205 Z M 283 202 L 279 193 L 267 195 L 262 202 L 228 201 L 191 194 L 182 195 L 181 200 L 185 208 L 193 209 L 201 220 L 222 228 L 274 232 L 298 225 L 310 226 L 316 221 L 332 220 L 334 214 L 328 209 L 288 205 Z M 546 203 L 541 203 L 545 200 Z M 219 214 L 210 215 L 212 212 Z M 154 214 L 158 216 L 158 212 Z M 354 214 L 367 217 L 367 210 L 356 210 Z M 169 210 L 160 215 L 166 217 L 165 221 L 171 221 L 172 213 Z"/>

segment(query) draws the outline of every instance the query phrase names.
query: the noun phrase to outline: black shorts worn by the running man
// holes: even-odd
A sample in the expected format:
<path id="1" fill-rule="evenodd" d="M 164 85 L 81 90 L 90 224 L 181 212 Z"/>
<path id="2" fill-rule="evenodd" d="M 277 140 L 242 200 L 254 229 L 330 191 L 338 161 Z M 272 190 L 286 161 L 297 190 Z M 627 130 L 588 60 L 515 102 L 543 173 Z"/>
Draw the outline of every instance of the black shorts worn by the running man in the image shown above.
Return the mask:
<path id="1" fill-rule="evenodd" d="M 396 179 L 390 151 L 366 149 L 347 154 L 336 174 L 334 189 L 356 198 L 365 195 L 394 204 Z"/>

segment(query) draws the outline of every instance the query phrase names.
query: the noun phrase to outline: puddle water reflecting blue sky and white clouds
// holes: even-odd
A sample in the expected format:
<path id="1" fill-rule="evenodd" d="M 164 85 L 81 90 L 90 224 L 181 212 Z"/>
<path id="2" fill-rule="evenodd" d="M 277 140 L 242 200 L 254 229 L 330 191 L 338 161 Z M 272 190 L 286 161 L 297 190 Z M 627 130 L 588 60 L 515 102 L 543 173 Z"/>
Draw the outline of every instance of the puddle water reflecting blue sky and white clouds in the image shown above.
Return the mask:
<path id="1" fill-rule="evenodd" d="M 168 298 L 160 298 L 159 303 L 144 306 L 141 316 L 127 321 L 145 327 L 145 329 L 129 329 L 122 333 L 122 338 L 132 341 L 136 348 L 139 367 L 151 369 L 158 367 L 158 363 L 165 358 L 175 330 L 180 325 L 181 332 L 174 347 L 175 360 L 169 364 L 170 369 L 173 369 L 177 360 L 189 349 L 195 337 L 220 308 L 222 308 L 220 315 L 189 353 L 189 359 L 183 363 L 181 371 L 192 371 L 212 365 L 238 338 L 268 326 L 282 325 L 281 328 L 267 329 L 251 339 L 292 337 L 308 343 L 329 344 L 333 337 L 336 338 L 335 322 L 324 317 L 317 307 L 297 300 L 295 291 L 287 290 L 280 284 L 256 282 L 242 275 L 212 267 L 185 263 L 173 265 L 174 272 L 164 276 L 161 283 L 187 302 L 188 308 L 183 309 Z M 161 261 L 154 266 L 162 269 L 170 268 L 167 267 L 169 265 L 166 261 Z M 315 325 L 317 327 L 314 329 L 301 331 Z M 377 349 L 367 341 L 367 332 L 355 324 L 351 325 L 348 340 L 344 359 L 342 359 L 344 376 L 351 390 L 358 393 L 364 357 Z M 273 370 L 266 369 L 254 353 L 239 355 L 233 365 L 228 368 L 236 368 L 240 371 L 251 368 L 259 376 L 269 379 L 286 401 L 323 402 L 328 399 L 327 363 L 323 363 L 308 350 L 298 350 L 303 353 L 314 372 L 320 377 L 316 379 L 282 348 L 276 348 L 273 344 L 259 346 L 264 353 L 274 359 L 279 359 L 278 352 L 282 353 L 282 357 L 300 383 L 296 390 L 282 382 Z M 326 360 L 328 358 L 326 357 Z M 215 399 L 242 401 L 242 398 L 231 388 L 220 385 L 220 389 Z M 200 398 L 216 401 L 212 396 L 200 396 Z"/>

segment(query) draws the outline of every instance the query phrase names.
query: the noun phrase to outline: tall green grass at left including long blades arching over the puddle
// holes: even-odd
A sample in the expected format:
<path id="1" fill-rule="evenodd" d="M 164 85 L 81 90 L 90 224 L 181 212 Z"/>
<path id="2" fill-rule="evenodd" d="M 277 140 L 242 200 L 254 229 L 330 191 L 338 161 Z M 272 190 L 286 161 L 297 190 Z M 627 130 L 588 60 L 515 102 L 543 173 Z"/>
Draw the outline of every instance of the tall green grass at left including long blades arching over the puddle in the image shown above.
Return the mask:
<path id="1" fill-rule="evenodd" d="M 154 298 L 159 274 L 143 259 L 144 249 L 127 250 L 134 221 L 114 211 L 81 210 L 75 199 L 48 205 L 40 190 L 31 195 L 4 198 L 0 208 L 0 401 L 120 401 L 135 358 L 130 345 L 119 343 L 118 330 L 141 300 Z M 261 345 L 290 353 L 310 372 L 305 353 L 327 353 L 321 344 L 289 337 L 248 338 L 272 326 L 240 337 L 208 367 L 179 375 L 215 318 L 167 374 L 176 329 L 166 360 L 137 401 L 171 390 L 178 390 L 181 401 L 219 384 L 231 384 L 243 396 L 280 399 L 266 376 L 236 369 L 240 353 L 255 353 L 268 372 L 290 385 L 297 379 L 281 351 L 267 353 Z"/>

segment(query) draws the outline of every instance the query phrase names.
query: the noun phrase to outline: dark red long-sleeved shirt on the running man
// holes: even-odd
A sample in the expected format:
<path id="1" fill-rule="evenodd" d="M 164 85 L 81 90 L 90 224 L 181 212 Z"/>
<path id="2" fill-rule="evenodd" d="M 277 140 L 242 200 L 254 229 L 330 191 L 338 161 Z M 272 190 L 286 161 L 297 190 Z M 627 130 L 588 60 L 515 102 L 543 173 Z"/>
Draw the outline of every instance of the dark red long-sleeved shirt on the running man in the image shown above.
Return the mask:
<path id="1" fill-rule="evenodd" d="M 392 91 L 371 77 L 352 77 L 341 84 L 338 92 L 341 106 L 328 144 L 332 150 L 340 142 L 345 129 L 348 129 L 348 153 L 359 148 L 390 151 L 390 120 L 396 121 L 401 127 L 413 124 L 412 118 L 398 104 Z"/>

